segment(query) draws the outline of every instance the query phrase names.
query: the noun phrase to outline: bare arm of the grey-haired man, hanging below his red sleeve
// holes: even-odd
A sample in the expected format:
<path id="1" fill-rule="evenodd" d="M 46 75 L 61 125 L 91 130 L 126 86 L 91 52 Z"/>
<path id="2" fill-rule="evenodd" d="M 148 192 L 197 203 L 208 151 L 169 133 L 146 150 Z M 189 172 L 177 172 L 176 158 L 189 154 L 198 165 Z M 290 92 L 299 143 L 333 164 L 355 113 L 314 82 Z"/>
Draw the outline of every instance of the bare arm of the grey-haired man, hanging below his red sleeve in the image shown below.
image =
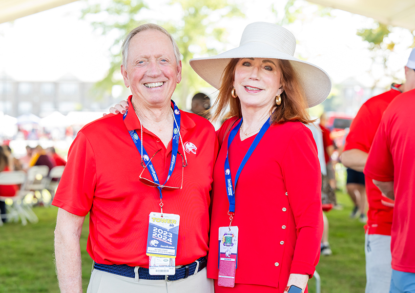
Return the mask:
<path id="1" fill-rule="evenodd" d="M 55 228 L 55 261 L 61 293 L 82 293 L 81 238 L 85 217 L 59 208 Z"/>

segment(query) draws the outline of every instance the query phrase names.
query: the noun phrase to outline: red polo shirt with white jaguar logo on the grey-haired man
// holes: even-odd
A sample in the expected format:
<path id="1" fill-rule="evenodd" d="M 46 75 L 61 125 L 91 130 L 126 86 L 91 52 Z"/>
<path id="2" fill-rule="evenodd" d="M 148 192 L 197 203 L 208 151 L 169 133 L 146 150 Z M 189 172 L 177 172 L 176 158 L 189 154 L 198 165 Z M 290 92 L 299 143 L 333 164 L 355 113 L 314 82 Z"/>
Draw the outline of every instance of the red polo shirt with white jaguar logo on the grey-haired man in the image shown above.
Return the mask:
<path id="1" fill-rule="evenodd" d="M 140 123 L 130 109 L 124 121 L 123 115 L 110 114 L 81 129 L 69 150 L 53 205 L 79 216 L 89 212 L 86 250 L 95 262 L 148 268 L 148 215 L 160 212 L 160 194 L 139 181 L 141 156 L 128 130 L 136 129 L 140 135 Z M 181 111 L 180 126 L 188 166 L 183 189 L 163 191 L 163 212 L 180 215 L 176 265 L 186 265 L 208 251 L 209 191 L 218 143 L 213 126 L 198 115 Z M 152 163 L 164 183 L 171 141 L 166 148 L 144 128 L 143 142 L 150 157 L 158 151 Z M 179 152 L 184 156 L 181 143 Z M 143 177 L 152 179 L 147 169 Z M 181 179 L 178 155 L 168 183 L 180 186 Z"/>

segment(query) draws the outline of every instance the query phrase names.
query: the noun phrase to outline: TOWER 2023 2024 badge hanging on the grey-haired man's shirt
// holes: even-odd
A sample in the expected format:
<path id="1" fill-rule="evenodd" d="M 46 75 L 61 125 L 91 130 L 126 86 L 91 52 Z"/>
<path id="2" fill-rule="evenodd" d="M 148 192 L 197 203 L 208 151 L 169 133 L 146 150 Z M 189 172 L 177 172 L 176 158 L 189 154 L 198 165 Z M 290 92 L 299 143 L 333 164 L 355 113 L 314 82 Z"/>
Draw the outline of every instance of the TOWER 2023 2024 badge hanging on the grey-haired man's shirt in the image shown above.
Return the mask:
<path id="1" fill-rule="evenodd" d="M 180 216 L 151 212 L 148 216 L 147 250 L 149 273 L 175 274 Z"/>

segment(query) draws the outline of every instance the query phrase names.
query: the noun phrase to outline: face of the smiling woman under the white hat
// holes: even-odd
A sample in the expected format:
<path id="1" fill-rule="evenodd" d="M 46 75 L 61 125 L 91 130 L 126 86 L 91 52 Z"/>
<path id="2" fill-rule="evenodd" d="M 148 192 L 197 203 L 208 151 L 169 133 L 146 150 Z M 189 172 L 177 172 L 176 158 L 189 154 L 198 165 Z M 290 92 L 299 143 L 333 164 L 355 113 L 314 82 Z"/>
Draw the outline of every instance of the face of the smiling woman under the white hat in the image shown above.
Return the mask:
<path id="1" fill-rule="evenodd" d="M 235 67 L 233 86 L 243 107 L 271 109 L 283 92 L 278 60 L 242 58 Z"/>

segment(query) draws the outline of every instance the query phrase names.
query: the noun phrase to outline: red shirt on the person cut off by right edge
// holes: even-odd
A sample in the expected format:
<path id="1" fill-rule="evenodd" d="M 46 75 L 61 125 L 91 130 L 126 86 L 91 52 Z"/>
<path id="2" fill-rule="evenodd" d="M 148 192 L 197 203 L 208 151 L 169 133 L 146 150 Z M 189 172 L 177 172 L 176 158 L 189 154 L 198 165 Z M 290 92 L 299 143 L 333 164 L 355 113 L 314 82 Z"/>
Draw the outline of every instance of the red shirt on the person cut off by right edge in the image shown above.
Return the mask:
<path id="1" fill-rule="evenodd" d="M 373 140 L 365 174 L 394 181 L 392 269 L 415 273 L 415 89 L 402 93 L 383 114 Z"/>

